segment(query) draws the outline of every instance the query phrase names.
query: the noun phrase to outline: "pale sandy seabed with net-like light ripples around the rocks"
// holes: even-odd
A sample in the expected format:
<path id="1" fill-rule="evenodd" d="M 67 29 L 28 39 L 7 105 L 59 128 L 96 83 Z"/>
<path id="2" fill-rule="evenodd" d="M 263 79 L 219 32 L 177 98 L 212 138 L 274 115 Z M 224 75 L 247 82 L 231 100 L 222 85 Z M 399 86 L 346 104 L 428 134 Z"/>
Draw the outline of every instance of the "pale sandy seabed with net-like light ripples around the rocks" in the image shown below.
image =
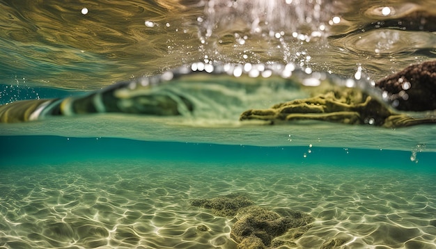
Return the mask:
<path id="1" fill-rule="evenodd" d="M 91 161 L 2 168 L 0 248 L 236 248 L 193 198 L 246 193 L 313 216 L 281 248 L 436 248 L 435 174 L 388 168 Z"/>

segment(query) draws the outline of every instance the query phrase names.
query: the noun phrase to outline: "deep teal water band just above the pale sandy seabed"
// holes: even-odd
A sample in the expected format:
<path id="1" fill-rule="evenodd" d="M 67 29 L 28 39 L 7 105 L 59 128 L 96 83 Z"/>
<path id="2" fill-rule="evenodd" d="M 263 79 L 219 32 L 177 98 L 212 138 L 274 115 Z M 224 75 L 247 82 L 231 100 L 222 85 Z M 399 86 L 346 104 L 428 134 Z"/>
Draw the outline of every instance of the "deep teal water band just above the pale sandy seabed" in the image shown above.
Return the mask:
<path id="1" fill-rule="evenodd" d="M 204 163 L 293 163 L 361 166 L 435 172 L 435 152 L 369 150 L 344 147 L 262 147 L 208 143 L 152 142 L 125 138 L 1 136 L 2 165 L 26 166 L 104 159 L 172 160 Z M 310 150 L 310 152 L 308 152 Z M 23 156 L 26 152 L 26 156 Z M 49 155 L 49 156 L 47 156 Z"/>

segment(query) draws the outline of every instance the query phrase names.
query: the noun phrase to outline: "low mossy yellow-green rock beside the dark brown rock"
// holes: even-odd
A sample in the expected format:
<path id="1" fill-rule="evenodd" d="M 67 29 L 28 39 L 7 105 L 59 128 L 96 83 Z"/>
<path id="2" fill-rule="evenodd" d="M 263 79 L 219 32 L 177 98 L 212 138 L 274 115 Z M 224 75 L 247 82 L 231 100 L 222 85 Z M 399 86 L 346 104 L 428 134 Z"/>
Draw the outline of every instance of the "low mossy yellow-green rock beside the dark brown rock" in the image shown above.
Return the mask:
<path id="1" fill-rule="evenodd" d="M 241 114 L 240 120 L 280 121 L 322 120 L 343 124 L 373 124 L 382 127 L 407 127 L 435 123 L 435 118 L 413 118 L 396 113 L 355 88 L 328 91 L 308 99 L 275 104 L 270 109 L 253 109 Z"/>

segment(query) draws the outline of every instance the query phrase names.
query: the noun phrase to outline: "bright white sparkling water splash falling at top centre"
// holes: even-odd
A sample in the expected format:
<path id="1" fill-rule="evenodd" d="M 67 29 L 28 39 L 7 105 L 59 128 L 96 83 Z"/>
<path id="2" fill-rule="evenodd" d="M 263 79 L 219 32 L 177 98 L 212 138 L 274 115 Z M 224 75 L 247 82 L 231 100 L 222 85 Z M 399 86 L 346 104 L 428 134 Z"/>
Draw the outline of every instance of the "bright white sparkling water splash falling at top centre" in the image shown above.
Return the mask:
<path id="1" fill-rule="evenodd" d="M 307 65 L 310 59 L 300 58 L 306 53 L 302 46 L 327 38 L 333 17 L 332 3 L 323 0 L 210 0 L 202 3 L 203 16 L 196 18 L 200 50 L 205 54 L 214 54 L 214 51 L 223 54 L 220 49 L 227 46 L 233 54 L 240 54 L 239 61 L 235 61 L 240 63 L 264 61 L 259 53 L 265 49 L 269 61 L 302 61 Z"/>

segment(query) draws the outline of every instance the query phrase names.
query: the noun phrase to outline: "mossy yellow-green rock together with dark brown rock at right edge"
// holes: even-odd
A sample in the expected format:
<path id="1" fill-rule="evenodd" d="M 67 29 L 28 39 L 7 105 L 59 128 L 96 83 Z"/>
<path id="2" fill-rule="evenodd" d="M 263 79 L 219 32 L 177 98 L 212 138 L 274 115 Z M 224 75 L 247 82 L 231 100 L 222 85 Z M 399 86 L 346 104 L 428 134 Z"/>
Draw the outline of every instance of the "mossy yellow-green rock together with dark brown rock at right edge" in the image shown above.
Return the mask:
<path id="1" fill-rule="evenodd" d="M 240 120 L 324 120 L 344 124 L 407 127 L 435 123 L 436 118 L 414 118 L 399 111 L 436 110 L 436 61 L 411 65 L 375 83 L 394 109 L 358 88 L 341 88 L 307 98 L 275 104 L 270 109 L 251 109 Z"/>

